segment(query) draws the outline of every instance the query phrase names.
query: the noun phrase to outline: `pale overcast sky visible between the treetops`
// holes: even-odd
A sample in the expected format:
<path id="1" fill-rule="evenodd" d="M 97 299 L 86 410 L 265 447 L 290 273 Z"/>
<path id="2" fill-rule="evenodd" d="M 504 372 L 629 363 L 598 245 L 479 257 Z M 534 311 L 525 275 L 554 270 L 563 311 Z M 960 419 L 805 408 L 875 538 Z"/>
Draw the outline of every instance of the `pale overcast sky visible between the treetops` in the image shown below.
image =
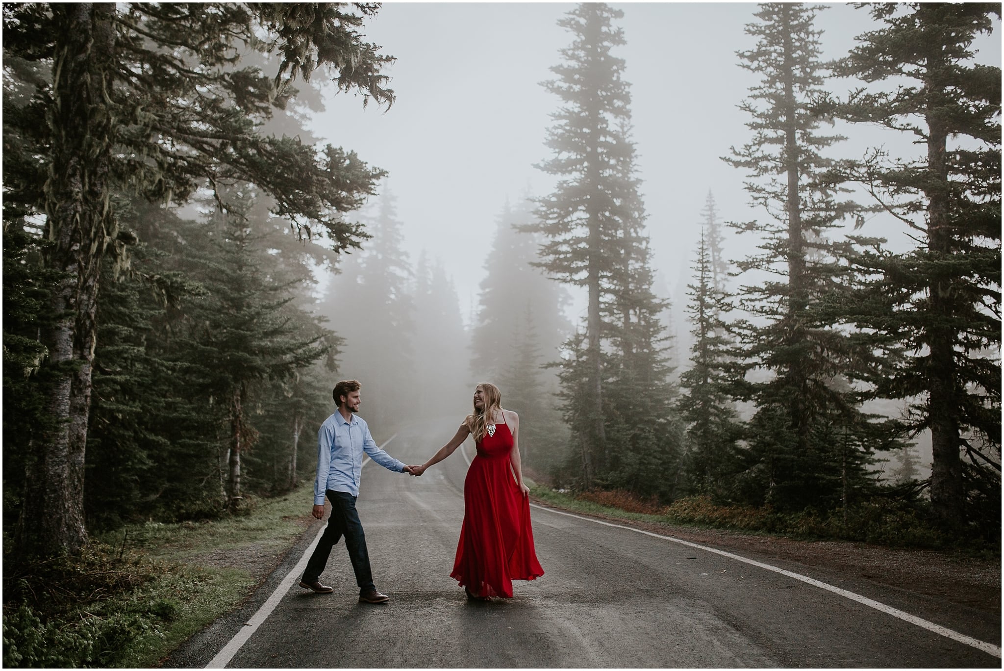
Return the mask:
<path id="1" fill-rule="evenodd" d="M 712 190 L 723 220 L 763 214 L 748 205 L 742 171 L 719 157 L 750 137 L 736 105 L 756 81 L 736 63 L 736 50 L 753 39 L 744 25 L 755 4 L 611 3 L 623 10 L 619 25 L 632 83 L 634 140 L 649 213 L 657 270 L 678 294 L 690 281 L 700 233 L 700 212 Z M 543 146 L 548 115 L 557 98 L 539 85 L 552 78 L 558 49 L 571 35 L 556 25 L 571 9 L 559 3 L 386 3 L 368 21 L 367 38 L 398 61 L 389 69 L 397 102 L 386 111 L 362 109 L 357 97 L 328 97 L 311 130 L 324 142 L 355 150 L 390 171 L 399 219 L 413 261 L 425 248 L 452 274 L 461 311 L 468 317 L 484 276 L 484 258 L 506 199 L 529 190 L 550 191 L 553 179 L 533 165 L 548 157 Z M 817 26 L 824 58 L 838 57 L 853 37 L 872 29 L 864 10 L 833 4 Z M 978 60 L 1000 65 L 1000 25 L 978 43 Z M 850 84 L 834 84 L 842 93 Z M 855 127 L 852 142 L 836 154 L 858 157 L 888 142 Z M 901 151 L 910 146 L 898 139 Z M 877 224 L 878 222 L 876 222 Z M 875 234 L 878 231 L 866 230 Z M 753 240 L 727 234 L 726 256 L 738 258 Z M 682 305 L 676 305 L 679 310 Z M 581 305 L 569 316 L 576 317 Z"/>

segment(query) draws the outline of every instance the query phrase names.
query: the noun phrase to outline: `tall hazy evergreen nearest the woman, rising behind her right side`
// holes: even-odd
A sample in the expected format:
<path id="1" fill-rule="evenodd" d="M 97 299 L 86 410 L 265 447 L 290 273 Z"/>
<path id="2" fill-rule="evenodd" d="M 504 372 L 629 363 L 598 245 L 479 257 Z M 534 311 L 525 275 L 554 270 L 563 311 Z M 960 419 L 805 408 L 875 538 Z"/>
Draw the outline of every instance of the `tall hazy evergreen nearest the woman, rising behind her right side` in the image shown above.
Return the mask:
<path id="1" fill-rule="evenodd" d="M 573 422 L 580 434 L 578 441 L 587 446 L 586 483 L 592 478 L 595 460 L 602 460 L 607 451 L 600 345 L 602 284 L 610 273 L 610 246 L 617 244 L 624 223 L 637 215 L 620 205 L 635 204 L 635 184 L 625 184 L 619 174 L 602 167 L 615 167 L 624 149 L 634 154 L 620 125 L 630 121 L 631 95 L 628 82 L 621 79 L 624 61 L 610 52 L 624 43 L 623 31 L 612 24 L 622 15 L 605 3 L 588 3 L 577 5 L 558 21 L 574 39 L 560 50 L 565 62 L 551 67 L 558 78 L 544 83 L 563 106 L 551 115 L 555 125 L 547 134 L 546 144 L 554 158 L 540 168 L 563 179 L 554 193 L 538 201 L 540 224 L 530 229 L 549 238 L 540 249 L 542 267 L 588 292 L 586 348 L 581 359 L 573 360 L 583 365 L 580 375 L 588 390 L 583 408 L 588 410 Z"/>

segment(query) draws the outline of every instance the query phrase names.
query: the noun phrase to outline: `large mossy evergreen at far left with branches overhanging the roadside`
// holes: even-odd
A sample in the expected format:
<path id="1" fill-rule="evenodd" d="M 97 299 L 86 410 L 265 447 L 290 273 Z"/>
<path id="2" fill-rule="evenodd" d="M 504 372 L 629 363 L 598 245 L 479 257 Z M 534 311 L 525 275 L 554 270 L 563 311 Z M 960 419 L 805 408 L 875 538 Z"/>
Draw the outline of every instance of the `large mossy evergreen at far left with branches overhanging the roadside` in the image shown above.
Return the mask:
<path id="1" fill-rule="evenodd" d="M 29 460 L 19 549 L 74 551 L 87 539 L 83 467 L 102 260 L 122 258 L 113 192 L 132 189 L 182 203 L 207 181 L 243 179 L 276 199 L 280 214 L 326 230 L 336 247 L 362 231 L 341 213 L 359 205 L 379 172 L 331 147 L 264 137 L 255 121 L 282 106 L 286 83 L 328 64 L 339 88 L 391 102 L 381 67 L 389 57 L 356 28 L 372 5 L 25 3 L 4 6 L 4 50 L 42 63 L 31 102 L 10 119 L 18 137 L 5 177 L 8 197 L 47 220 L 46 264 L 61 272 L 42 324 L 53 382 Z M 276 77 L 238 69 L 245 47 L 278 52 Z M 6 61 L 6 57 L 5 57 Z M 184 104 L 179 104 L 184 100 Z M 5 147 L 6 149 L 6 147 Z M 21 151 L 25 149 L 25 151 Z M 12 170 L 13 169 L 13 170 Z M 14 177 L 16 175 L 16 177 Z"/>

